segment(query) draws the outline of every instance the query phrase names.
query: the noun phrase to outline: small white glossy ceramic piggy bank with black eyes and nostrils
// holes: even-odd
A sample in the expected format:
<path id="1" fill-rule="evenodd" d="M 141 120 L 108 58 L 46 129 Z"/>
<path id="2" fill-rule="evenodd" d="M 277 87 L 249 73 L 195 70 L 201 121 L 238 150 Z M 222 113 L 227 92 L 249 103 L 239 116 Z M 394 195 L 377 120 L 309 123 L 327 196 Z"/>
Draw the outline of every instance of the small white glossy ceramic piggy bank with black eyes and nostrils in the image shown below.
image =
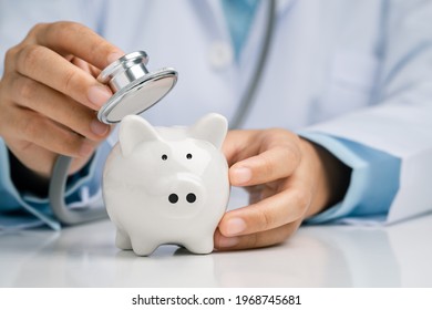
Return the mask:
<path id="1" fill-rule="evenodd" d="M 103 198 L 116 226 L 115 245 L 147 256 L 160 245 L 213 251 L 229 198 L 220 152 L 227 121 L 208 114 L 191 127 L 153 127 L 123 118 L 103 172 Z"/>

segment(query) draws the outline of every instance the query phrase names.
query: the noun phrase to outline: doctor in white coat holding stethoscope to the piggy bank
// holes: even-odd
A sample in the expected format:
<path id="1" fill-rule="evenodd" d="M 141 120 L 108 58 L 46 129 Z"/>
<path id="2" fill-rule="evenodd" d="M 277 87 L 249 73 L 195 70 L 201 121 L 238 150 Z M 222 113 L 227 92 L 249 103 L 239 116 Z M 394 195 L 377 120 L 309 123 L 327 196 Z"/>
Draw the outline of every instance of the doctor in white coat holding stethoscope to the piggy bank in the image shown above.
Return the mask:
<path id="1" fill-rule="evenodd" d="M 97 198 L 115 135 L 95 118 L 112 95 L 95 76 L 135 50 L 179 72 L 150 122 L 218 112 L 244 128 L 224 151 L 250 205 L 224 216 L 217 248 L 278 244 L 304 220 L 431 210 L 431 2 L 280 0 L 272 14 L 254 0 L 0 2 L 0 225 L 59 227 L 47 202 L 58 154 L 74 157 L 68 202 Z"/>

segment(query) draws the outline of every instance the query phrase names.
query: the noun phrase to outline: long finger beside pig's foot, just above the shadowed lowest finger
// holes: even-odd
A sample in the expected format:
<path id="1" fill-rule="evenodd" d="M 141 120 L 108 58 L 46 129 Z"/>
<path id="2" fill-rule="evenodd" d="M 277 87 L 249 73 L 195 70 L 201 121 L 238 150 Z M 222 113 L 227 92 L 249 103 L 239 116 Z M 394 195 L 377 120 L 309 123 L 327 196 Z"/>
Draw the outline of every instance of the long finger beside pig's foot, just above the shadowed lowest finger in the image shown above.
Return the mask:
<path id="1" fill-rule="evenodd" d="M 305 190 L 289 189 L 224 215 L 218 227 L 226 237 L 275 229 L 304 217 L 311 196 Z"/>

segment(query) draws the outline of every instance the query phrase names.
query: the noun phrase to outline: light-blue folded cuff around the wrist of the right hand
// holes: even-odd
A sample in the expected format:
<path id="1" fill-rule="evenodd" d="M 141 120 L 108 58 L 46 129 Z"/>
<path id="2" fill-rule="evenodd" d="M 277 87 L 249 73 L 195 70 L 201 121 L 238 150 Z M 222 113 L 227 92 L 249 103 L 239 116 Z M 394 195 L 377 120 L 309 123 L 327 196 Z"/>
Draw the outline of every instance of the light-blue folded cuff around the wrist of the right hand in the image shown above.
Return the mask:
<path id="1" fill-rule="evenodd" d="M 385 218 L 399 189 L 400 159 L 388 153 L 322 133 L 299 135 L 321 145 L 352 169 L 343 199 L 306 223 Z"/>

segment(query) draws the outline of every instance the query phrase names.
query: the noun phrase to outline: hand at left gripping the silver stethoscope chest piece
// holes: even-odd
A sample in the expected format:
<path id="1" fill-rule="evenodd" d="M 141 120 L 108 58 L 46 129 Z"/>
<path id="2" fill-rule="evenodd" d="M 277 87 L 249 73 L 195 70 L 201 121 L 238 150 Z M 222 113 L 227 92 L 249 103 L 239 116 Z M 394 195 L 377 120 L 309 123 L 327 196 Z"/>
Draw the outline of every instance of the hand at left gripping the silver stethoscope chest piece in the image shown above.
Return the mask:
<path id="1" fill-rule="evenodd" d="M 0 136 L 28 168 L 49 177 L 58 154 L 89 161 L 110 126 L 95 111 L 112 95 L 95 79 L 123 54 L 73 22 L 37 24 L 6 54 L 0 81 Z"/>

